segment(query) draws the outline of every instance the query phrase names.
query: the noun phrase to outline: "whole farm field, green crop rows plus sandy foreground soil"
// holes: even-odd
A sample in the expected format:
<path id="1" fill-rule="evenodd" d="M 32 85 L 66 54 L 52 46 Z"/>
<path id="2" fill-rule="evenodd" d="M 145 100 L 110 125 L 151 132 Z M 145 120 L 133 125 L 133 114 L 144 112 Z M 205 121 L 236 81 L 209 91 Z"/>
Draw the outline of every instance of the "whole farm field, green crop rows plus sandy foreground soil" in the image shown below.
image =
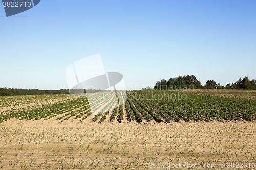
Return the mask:
<path id="1" fill-rule="evenodd" d="M 0 169 L 256 169 L 255 96 L 141 90 L 0 97 Z"/>

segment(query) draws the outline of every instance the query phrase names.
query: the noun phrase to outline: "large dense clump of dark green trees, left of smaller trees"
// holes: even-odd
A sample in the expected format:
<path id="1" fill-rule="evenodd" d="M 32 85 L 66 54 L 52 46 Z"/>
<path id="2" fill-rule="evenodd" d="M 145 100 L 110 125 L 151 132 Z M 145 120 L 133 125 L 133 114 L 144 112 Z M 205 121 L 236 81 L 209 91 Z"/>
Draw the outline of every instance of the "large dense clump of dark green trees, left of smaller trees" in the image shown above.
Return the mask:
<path id="1" fill-rule="evenodd" d="M 188 90 L 188 89 L 204 89 L 201 82 L 194 75 L 179 76 L 170 78 L 168 81 L 163 79 L 158 81 L 154 86 L 155 90 Z"/>

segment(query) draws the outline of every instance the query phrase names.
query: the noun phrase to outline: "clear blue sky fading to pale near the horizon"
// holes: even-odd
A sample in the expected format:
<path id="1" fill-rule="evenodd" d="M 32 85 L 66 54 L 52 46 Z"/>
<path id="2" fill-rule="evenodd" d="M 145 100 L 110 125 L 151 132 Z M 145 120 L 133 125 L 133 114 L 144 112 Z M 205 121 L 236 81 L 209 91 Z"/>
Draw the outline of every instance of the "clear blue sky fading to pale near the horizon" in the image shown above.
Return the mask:
<path id="1" fill-rule="evenodd" d="M 256 1 L 41 0 L 0 7 L 0 88 L 67 89 L 66 68 L 100 53 L 128 90 L 195 75 L 256 79 Z"/>

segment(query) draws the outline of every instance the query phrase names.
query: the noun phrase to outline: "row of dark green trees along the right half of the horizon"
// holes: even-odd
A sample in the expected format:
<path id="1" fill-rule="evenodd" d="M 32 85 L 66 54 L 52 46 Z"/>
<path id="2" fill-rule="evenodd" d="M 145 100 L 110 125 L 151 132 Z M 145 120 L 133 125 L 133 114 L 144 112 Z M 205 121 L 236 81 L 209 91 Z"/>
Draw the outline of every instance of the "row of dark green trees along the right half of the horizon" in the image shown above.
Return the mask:
<path id="1" fill-rule="evenodd" d="M 142 90 L 150 90 L 150 87 L 143 88 Z M 207 80 L 204 86 L 197 80 L 194 75 L 179 76 L 176 78 L 170 78 L 168 81 L 162 79 L 158 81 L 154 86 L 155 90 L 178 90 L 178 89 L 244 89 L 244 90 L 256 90 L 256 81 L 254 79 L 249 80 L 248 77 L 239 79 L 235 83 L 222 86 L 220 83 L 216 83 L 214 80 Z"/>

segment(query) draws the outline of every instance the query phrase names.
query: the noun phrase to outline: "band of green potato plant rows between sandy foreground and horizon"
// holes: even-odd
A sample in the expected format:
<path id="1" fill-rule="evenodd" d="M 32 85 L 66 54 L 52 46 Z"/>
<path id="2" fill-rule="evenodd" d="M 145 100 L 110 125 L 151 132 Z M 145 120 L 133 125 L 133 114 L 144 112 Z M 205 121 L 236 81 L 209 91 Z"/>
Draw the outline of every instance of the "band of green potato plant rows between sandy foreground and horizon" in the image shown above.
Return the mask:
<path id="1" fill-rule="evenodd" d="M 86 97 L 70 95 L 14 96 L 0 98 L 0 123 L 10 118 L 19 120 L 90 119 L 94 122 L 121 123 L 150 121 L 178 122 L 211 120 L 255 120 L 256 101 L 222 96 L 195 95 L 186 91 L 129 91 L 117 92 L 119 106 L 113 98 L 115 92 L 105 92 L 103 98 L 91 100 L 90 108 Z M 91 95 L 91 94 L 89 94 Z M 127 99 L 127 100 L 126 100 Z M 55 102 L 56 101 L 56 102 Z M 93 105 L 92 105 L 93 104 Z M 109 108 L 115 108 L 110 111 Z M 92 110 L 100 109 L 100 114 L 92 117 Z M 87 120 L 89 121 L 89 120 Z"/>

